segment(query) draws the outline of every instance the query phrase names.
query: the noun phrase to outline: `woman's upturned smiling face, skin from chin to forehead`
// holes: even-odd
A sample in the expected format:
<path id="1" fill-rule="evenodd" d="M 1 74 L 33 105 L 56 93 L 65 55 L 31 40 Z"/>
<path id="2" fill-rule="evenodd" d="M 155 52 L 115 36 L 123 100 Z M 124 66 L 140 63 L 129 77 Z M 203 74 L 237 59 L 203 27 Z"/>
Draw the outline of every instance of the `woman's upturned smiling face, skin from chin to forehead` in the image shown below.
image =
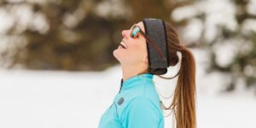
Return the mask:
<path id="1" fill-rule="evenodd" d="M 137 23 L 143 32 L 145 32 L 143 22 Z M 142 34 L 139 34 L 137 38 L 131 38 L 131 29 L 124 30 L 122 32 L 123 40 L 120 44 L 125 45 L 125 48 L 119 45 L 117 49 L 113 50 L 114 57 L 122 65 L 137 65 L 142 62 L 147 62 L 147 44 L 146 39 Z"/>

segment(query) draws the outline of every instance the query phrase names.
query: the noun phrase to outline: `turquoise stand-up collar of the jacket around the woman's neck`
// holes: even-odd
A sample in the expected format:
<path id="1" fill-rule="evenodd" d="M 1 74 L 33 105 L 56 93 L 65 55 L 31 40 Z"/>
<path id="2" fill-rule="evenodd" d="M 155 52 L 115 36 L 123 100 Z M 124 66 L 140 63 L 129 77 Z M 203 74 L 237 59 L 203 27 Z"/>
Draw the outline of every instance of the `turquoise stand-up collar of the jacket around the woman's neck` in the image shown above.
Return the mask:
<path id="1" fill-rule="evenodd" d="M 143 81 L 143 80 L 151 81 L 152 79 L 153 79 L 153 74 L 152 73 L 138 74 L 136 76 L 131 77 L 130 79 L 126 79 L 125 81 L 123 79 L 121 79 L 119 92 L 121 90 L 125 90 L 127 88 L 131 88 L 132 86 L 135 86 L 136 84 L 133 84 L 135 82 Z"/>

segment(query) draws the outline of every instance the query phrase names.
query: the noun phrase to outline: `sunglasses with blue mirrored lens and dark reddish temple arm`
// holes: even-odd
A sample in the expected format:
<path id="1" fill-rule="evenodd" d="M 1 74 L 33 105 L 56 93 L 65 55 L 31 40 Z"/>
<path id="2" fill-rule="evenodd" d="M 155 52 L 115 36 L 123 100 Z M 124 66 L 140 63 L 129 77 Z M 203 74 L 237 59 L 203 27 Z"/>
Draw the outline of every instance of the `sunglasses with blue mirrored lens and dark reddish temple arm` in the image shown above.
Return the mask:
<path id="1" fill-rule="evenodd" d="M 164 61 L 166 60 L 166 56 L 161 52 L 160 48 L 157 46 L 156 43 L 154 43 L 154 41 L 152 39 L 150 39 L 143 31 L 142 28 L 140 26 L 137 26 L 137 24 L 134 24 L 133 26 L 131 26 L 131 34 L 130 37 L 135 39 L 139 36 L 139 34 L 142 34 L 144 38 L 146 38 L 146 42 L 150 45 L 153 46 L 153 48 L 157 51 L 157 53 L 161 56 L 161 58 Z"/>

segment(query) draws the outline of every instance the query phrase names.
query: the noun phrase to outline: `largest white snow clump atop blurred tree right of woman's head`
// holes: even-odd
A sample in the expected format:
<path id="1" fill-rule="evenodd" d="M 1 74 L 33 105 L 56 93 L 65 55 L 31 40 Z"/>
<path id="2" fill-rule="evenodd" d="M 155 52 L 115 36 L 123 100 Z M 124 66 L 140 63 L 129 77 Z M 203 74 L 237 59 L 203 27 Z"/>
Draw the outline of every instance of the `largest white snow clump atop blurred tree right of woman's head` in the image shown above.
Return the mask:
<path id="1" fill-rule="evenodd" d="M 203 26 L 205 28 L 203 38 L 207 40 L 207 43 L 212 42 L 216 37 L 218 37 L 219 26 L 224 26 L 230 31 L 237 30 L 238 25 L 236 22 L 236 6 L 230 0 L 196 1 L 194 4 L 186 5 L 184 7 L 175 9 L 172 12 L 171 17 L 175 21 L 194 20 L 189 22 L 189 24 L 192 25 L 189 25 L 189 27 L 187 27 L 188 29 L 184 30 L 184 32 L 191 32 L 194 30 L 193 32 L 196 33 L 194 33 L 193 35 L 195 35 L 195 38 L 197 38 L 198 35 L 201 35 L 202 30 L 200 24 L 195 24 L 195 19 L 200 19 L 198 18 L 200 17 L 200 15 L 205 16 L 205 19 L 203 19 Z M 198 31 L 195 31 L 195 25 L 199 27 Z M 191 26 L 194 26 L 193 30 L 190 30 Z M 195 39 L 191 40 L 191 42 L 193 41 L 195 41 Z"/>

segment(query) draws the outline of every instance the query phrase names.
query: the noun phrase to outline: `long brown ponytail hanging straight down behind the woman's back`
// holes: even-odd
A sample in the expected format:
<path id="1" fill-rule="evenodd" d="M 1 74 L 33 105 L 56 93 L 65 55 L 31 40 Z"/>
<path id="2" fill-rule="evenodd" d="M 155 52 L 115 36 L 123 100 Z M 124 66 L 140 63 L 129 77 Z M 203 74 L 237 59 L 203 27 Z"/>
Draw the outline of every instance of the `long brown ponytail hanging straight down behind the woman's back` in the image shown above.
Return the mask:
<path id="1" fill-rule="evenodd" d="M 195 128 L 195 60 L 187 48 L 183 48 L 180 73 L 173 102 L 177 128 Z"/>

